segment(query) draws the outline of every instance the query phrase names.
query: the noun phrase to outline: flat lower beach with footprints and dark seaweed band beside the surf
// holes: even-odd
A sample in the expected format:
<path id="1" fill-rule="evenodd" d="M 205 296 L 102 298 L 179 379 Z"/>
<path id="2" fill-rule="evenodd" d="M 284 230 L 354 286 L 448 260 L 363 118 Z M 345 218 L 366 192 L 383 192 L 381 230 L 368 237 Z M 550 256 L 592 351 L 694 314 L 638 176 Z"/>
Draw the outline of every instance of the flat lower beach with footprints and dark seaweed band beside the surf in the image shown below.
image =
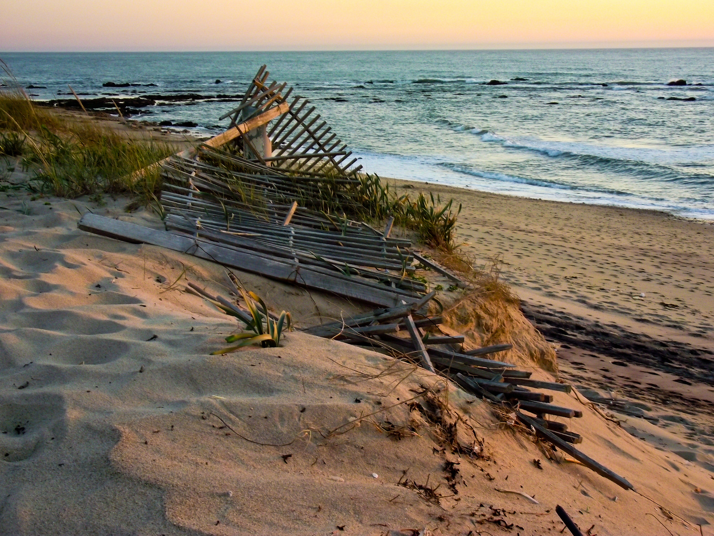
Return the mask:
<path id="1" fill-rule="evenodd" d="M 620 415 L 638 437 L 714 470 L 712 222 L 396 184 L 462 204 L 463 250 L 501 261 L 563 377 L 658 423 Z"/>

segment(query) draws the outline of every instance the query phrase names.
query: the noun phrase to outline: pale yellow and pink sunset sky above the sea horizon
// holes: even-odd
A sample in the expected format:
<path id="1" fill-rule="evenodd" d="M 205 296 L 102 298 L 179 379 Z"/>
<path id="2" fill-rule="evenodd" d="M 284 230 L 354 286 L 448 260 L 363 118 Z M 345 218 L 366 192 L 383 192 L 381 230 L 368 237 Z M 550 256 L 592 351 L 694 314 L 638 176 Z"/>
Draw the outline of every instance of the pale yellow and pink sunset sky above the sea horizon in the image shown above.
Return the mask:
<path id="1" fill-rule="evenodd" d="M 0 0 L 0 51 L 714 46 L 714 0 Z"/>

